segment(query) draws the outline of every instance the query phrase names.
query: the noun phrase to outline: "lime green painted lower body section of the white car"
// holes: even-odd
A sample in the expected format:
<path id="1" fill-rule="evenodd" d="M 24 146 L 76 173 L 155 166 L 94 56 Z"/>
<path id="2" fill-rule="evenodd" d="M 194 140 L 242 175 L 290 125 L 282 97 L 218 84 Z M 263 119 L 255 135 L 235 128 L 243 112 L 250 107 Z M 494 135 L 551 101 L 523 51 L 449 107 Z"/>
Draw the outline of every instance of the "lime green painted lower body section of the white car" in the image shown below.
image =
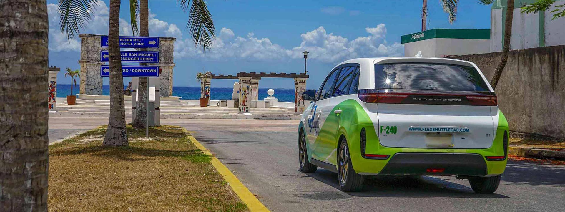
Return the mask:
<path id="1" fill-rule="evenodd" d="M 337 168 L 337 151 L 341 137 L 345 137 L 349 145 L 351 162 L 355 172 L 363 175 L 377 175 L 390 158 L 396 153 L 473 153 L 483 156 L 487 166 L 486 176 L 496 176 L 504 172 L 507 157 L 504 161 L 486 161 L 486 156 L 504 155 L 503 136 L 509 132 L 508 122 L 502 111 L 498 110 L 498 126 L 493 144 L 486 149 L 424 149 L 424 148 L 391 148 L 383 146 L 379 142 L 379 136 L 375 132 L 375 126 L 371 118 L 367 115 L 363 107 L 355 99 L 347 99 L 339 103 L 333 110 L 342 110 L 338 115 L 331 115 L 325 120 L 320 128 L 319 135 L 315 142 L 308 141 L 306 136 L 306 144 L 308 149 L 308 159 L 312 158 L 313 149 L 325 149 L 320 152 L 330 152 L 328 155 L 316 155 L 318 158 L 327 158 L 326 162 L 330 162 Z M 332 111 L 333 111 L 332 110 Z M 493 116 L 496 117 L 496 116 Z M 366 149 L 367 154 L 390 155 L 388 159 L 367 159 L 361 155 L 360 132 L 365 128 L 366 131 Z M 299 124 L 299 132 L 305 130 L 304 123 Z M 318 151 L 316 151 L 318 152 Z"/>

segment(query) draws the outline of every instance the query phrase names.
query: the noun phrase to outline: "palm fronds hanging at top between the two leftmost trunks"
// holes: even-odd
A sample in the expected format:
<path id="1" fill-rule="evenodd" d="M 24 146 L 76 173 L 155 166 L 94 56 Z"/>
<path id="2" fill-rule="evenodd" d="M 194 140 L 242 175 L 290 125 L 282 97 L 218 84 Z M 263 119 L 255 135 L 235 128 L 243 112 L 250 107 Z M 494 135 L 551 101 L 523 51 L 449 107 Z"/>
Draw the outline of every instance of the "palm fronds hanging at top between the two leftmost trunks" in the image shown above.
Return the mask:
<path id="1" fill-rule="evenodd" d="M 94 6 L 98 6 L 96 0 L 59 0 L 59 25 L 61 33 L 67 38 L 73 38 L 84 28 L 94 12 Z"/>

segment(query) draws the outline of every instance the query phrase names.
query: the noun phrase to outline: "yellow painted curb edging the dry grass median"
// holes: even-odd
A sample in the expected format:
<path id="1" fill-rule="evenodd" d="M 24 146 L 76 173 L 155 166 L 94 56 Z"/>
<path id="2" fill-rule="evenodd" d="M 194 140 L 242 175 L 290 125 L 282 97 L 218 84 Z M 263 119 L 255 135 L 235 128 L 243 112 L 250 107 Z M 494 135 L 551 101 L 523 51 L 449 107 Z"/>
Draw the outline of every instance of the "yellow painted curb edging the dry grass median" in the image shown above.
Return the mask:
<path id="1" fill-rule="evenodd" d="M 203 153 L 210 156 L 210 162 L 212 162 L 212 166 L 220 172 L 220 175 L 228 182 L 229 186 L 232 187 L 233 191 L 236 192 L 237 196 L 240 197 L 240 200 L 247 205 L 247 209 L 251 212 L 255 211 L 270 211 L 265 207 L 258 199 L 245 187 L 243 183 L 239 179 L 237 179 L 236 175 L 233 175 L 231 171 L 229 171 L 228 167 L 225 167 L 223 163 L 220 162 L 218 158 L 216 158 L 210 150 L 206 149 L 200 142 L 198 142 L 194 136 L 190 135 L 185 128 L 183 128 L 186 136 L 188 136 L 189 140 L 200 149 Z"/>

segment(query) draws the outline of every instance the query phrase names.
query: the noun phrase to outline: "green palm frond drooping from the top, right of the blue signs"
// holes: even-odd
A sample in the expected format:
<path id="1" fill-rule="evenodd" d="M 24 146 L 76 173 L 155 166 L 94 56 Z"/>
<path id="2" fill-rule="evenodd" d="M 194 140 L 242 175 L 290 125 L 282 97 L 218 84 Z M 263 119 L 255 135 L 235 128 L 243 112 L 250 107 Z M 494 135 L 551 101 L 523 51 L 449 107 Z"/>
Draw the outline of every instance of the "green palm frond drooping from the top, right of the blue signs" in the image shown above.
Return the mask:
<path id="1" fill-rule="evenodd" d="M 186 28 L 188 28 L 190 34 L 192 34 L 194 45 L 202 50 L 210 49 L 212 47 L 212 38 L 214 38 L 216 34 L 214 21 L 212 21 L 212 15 L 210 11 L 208 11 L 206 1 L 193 0 L 192 4 L 190 0 L 179 0 L 179 2 L 182 11 L 189 11 Z"/>

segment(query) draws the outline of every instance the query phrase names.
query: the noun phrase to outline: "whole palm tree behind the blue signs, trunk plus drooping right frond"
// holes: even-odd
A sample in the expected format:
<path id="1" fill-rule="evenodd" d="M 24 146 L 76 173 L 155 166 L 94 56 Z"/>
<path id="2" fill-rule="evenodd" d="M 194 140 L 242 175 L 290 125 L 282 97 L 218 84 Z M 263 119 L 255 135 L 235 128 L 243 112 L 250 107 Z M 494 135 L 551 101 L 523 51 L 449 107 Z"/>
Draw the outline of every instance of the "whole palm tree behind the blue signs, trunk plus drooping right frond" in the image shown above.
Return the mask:
<path id="1" fill-rule="evenodd" d="M 130 2 L 136 0 L 130 0 Z M 199 46 L 202 50 L 210 49 L 212 45 L 212 38 L 215 37 L 214 21 L 212 15 L 208 11 L 206 1 L 204 0 L 178 0 L 182 11 L 189 14 L 188 24 L 186 28 L 192 34 L 192 39 L 195 45 Z M 131 4 L 130 4 L 131 5 Z M 149 6 L 147 0 L 140 0 L 140 36 L 149 36 Z M 133 22 L 132 22 L 133 24 Z M 141 51 L 147 51 L 142 48 Z M 147 63 L 141 63 L 141 66 L 147 66 Z M 147 109 L 144 102 L 147 101 L 149 94 L 147 93 L 147 77 L 140 77 L 138 81 L 137 95 L 138 104 L 136 111 L 136 118 L 133 120 L 134 128 L 145 128 L 147 119 Z"/>

